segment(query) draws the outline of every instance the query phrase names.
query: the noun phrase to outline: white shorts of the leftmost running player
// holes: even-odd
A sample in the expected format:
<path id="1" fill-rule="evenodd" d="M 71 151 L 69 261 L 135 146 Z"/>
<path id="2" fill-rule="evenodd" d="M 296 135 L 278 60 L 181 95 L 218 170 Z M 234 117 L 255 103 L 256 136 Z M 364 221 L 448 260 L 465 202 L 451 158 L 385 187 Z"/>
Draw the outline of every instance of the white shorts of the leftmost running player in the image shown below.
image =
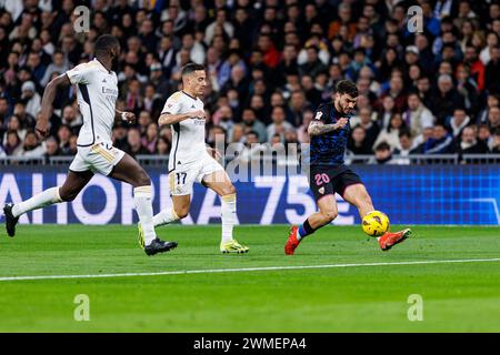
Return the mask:
<path id="1" fill-rule="evenodd" d="M 79 146 L 71 162 L 70 170 L 74 172 L 89 171 L 109 175 L 124 152 L 114 148 L 111 142 L 100 142 L 91 146 Z"/>

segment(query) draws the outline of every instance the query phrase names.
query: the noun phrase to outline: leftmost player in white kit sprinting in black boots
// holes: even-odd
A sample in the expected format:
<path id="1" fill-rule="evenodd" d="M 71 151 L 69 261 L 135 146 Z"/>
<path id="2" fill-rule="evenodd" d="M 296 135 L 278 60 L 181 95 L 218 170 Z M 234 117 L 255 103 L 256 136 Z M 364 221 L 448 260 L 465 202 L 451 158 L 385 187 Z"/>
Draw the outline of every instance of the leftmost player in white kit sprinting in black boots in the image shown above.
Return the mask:
<path id="1" fill-rule="evenodd" d="M 46 190 L 27 201 L 4 206 L 6 227 L 10 236 L 16 234 L 16 224 L 21 214 L 54 203 L 73 201 L 98 172 L 128 182 L 134 187 L 133 200 L 144 235 L 146 254 L 154 255 L 177 246 L 176 242 L 164 242 L 156 235 L 149 175 L 130 155 L 112 146 L 111 130 L 117 113 L 129 122 L 136 119 L 131 112 L 116 110 L 119 93 L 118 79 L 111 68 L 119 54 L 118 40 L 112 36 L 103 34 L 96 41 L 96 58 L 91 62 L 74 67 L 47 85 L 36 130 L 41 136 L 47 135 L 52 102 L 58 88 L 76 85 L 78 104 L 83 116 L 83 126 L 77 141 L 78 153 L 62 186 Z"/>

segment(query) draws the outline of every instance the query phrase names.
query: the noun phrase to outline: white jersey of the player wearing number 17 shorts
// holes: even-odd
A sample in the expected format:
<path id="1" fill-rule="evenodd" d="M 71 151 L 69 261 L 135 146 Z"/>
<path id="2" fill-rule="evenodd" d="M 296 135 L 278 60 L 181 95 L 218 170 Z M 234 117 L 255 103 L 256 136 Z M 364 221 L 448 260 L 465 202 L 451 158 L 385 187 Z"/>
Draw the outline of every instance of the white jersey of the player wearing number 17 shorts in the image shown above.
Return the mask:
<path id="1" fill-rule="evenodd" d="M 203 102 L 183 91 L 173 93 L 166 102 L 162 113 L 182 114 L 203 111 Z M 194 118 L 172 124 L 172 149 L 169 158 L 169 171 L 180 164 L 199 161 L 206 155 L 204 124 L 202 118 Z"/>

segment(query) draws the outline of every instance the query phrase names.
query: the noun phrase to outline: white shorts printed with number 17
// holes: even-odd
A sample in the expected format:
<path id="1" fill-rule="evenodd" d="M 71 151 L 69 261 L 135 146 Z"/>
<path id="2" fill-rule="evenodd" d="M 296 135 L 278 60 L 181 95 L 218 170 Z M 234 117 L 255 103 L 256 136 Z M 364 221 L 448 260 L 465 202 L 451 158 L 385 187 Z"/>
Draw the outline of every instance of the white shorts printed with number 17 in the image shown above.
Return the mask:
<path id="1" fill-rule="evenodd" d="M 224 169 L 209 154 L 191 163 L 177 164 L 176 169 L 169 173 L 170 195 L 192 195 L 194 181 L 201 183 L 204 176 L 217 171 L 224 171 Z"/>

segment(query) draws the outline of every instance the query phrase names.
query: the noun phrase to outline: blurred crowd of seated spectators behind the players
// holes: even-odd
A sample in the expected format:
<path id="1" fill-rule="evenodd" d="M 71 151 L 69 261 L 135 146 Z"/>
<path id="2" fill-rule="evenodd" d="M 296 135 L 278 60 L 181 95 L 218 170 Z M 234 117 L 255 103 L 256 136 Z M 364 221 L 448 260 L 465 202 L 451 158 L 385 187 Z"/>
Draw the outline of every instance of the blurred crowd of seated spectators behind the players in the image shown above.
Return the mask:
<path id="1" fill-rule="evenodd" d="M 91 9 L 89 31 L 73 24 Z M 418 4 L 423 31 L 407 11 Z M 0 0 L 0 156 L 76 154 L 74 88 L 53 103 L 50 136 L 34 132 L 47 83 L 116 36 L 113 142 L 131 155 L 168 154 L 157 120 L 188 62 L 207 68 L 207 142 L 247 155 L 258 143 L 307 143 L 307 126 L 341 79 L 359 88 L 350 154 L 500 153 L 500 6 L 496 0 Z M 253 144 L 253 148 L 252 145 Z"/>

